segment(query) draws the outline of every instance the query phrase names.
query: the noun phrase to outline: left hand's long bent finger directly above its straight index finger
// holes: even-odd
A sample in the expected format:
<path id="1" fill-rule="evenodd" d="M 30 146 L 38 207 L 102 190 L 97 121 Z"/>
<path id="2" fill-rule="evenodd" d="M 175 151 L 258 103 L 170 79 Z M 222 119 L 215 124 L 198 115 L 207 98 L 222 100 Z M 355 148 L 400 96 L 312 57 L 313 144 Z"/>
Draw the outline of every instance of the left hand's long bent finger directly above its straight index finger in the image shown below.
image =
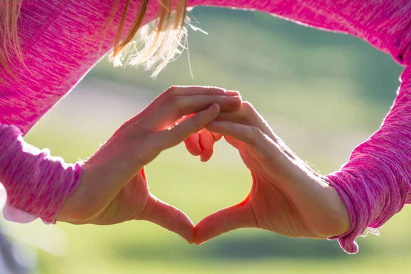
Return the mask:
<path id="1" fill-rule="evenodd" d="M 221 111 L 230 112 L 240 108 L 240 97 L 221 95 L 192 95 L 173 97 L 171 101 L 160 105 L 139 121 L 138 127 L 149 132 L 166 129 L 173 125 L 182 116 L 205 110 L 212 103 L 219 104 Z"/>

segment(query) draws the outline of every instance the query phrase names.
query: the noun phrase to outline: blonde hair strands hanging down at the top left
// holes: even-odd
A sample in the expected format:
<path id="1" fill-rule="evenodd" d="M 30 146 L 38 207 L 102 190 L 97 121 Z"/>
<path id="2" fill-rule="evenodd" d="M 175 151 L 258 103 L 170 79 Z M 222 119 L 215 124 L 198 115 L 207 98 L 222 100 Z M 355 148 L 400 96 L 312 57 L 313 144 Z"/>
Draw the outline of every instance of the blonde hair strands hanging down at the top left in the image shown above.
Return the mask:
<path id="1" fill-rule="evenodd" d="M 11 74 L 13 57 L 24 64 L 17 33 L 17 20 L 22 1 L 1 0 L 0 3 L 0 35 L 3 38 L 3 45 L 0 47 L 0 65 Z M 112 13 L 104 26 L 103 38 L 114 21 L 116 12 L 119 11 L 120 1 L 114 0 Z M 187 0 L 176 0 L 175 12 L 172 12 L 174 0 L 158 0 L 158 18 L 143 27 L 149 0 L 140 0 L 136 18 L 125 37 L 121 39 L 130 1 L 132 0 L 125 0 L 119 28 L 109 55 L 110 60 L 114 62 L 114 66 L 119 66 L 127 59 L 127 64 L 143 65 L 145 69 L 153 69 L 152 77 L 156 77 L 166 64 L 175 58 L 176 53 L 181 53 L 179 46 L 184 48 L 180 41 L 187 34 L 187 29 L 184 27 L 187 20 Z"/>

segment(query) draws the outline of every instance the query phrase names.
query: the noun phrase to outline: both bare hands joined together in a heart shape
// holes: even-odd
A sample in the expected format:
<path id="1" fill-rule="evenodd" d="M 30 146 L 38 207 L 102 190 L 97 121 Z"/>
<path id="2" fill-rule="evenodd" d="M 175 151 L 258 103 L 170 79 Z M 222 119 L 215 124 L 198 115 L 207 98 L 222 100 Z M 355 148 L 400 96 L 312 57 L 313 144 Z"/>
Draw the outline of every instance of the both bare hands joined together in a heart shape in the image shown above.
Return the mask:
<path id="1" fill-rule="evenodd" d="M 205 162 L 221 136 L 238 149 L 251 172 L 251 190 L 240 203 L 195 226 L 184 212 L 151 194 L 144 166 L 182 141 Z M 84 163 L 79 187 L 58 216 L 73 224 L 131 220 L 156 223 L 197 245 L 242 227 L 329 238 L 350 226 L 336 190 L 273 133 L 250 103 L 238 92 L 206 87 L 172 87 L 122 125 Z"/>

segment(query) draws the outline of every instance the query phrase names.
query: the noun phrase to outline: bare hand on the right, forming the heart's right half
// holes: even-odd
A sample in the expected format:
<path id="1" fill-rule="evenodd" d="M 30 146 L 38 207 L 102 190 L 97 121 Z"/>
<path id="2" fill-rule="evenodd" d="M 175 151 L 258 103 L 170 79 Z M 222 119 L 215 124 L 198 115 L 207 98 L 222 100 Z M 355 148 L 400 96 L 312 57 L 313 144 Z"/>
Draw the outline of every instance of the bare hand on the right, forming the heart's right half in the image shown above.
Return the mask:
<path id="1" fill-rule="evenodd" d="M 253 178 L 249 195 L 195 227 L 197 245 L 241 227 L 290 237 L 329 238 L 349 229 L 349 214 L 334 188 L 275 136 L 248 102 L 206 127 L 238 149 Z"/>

